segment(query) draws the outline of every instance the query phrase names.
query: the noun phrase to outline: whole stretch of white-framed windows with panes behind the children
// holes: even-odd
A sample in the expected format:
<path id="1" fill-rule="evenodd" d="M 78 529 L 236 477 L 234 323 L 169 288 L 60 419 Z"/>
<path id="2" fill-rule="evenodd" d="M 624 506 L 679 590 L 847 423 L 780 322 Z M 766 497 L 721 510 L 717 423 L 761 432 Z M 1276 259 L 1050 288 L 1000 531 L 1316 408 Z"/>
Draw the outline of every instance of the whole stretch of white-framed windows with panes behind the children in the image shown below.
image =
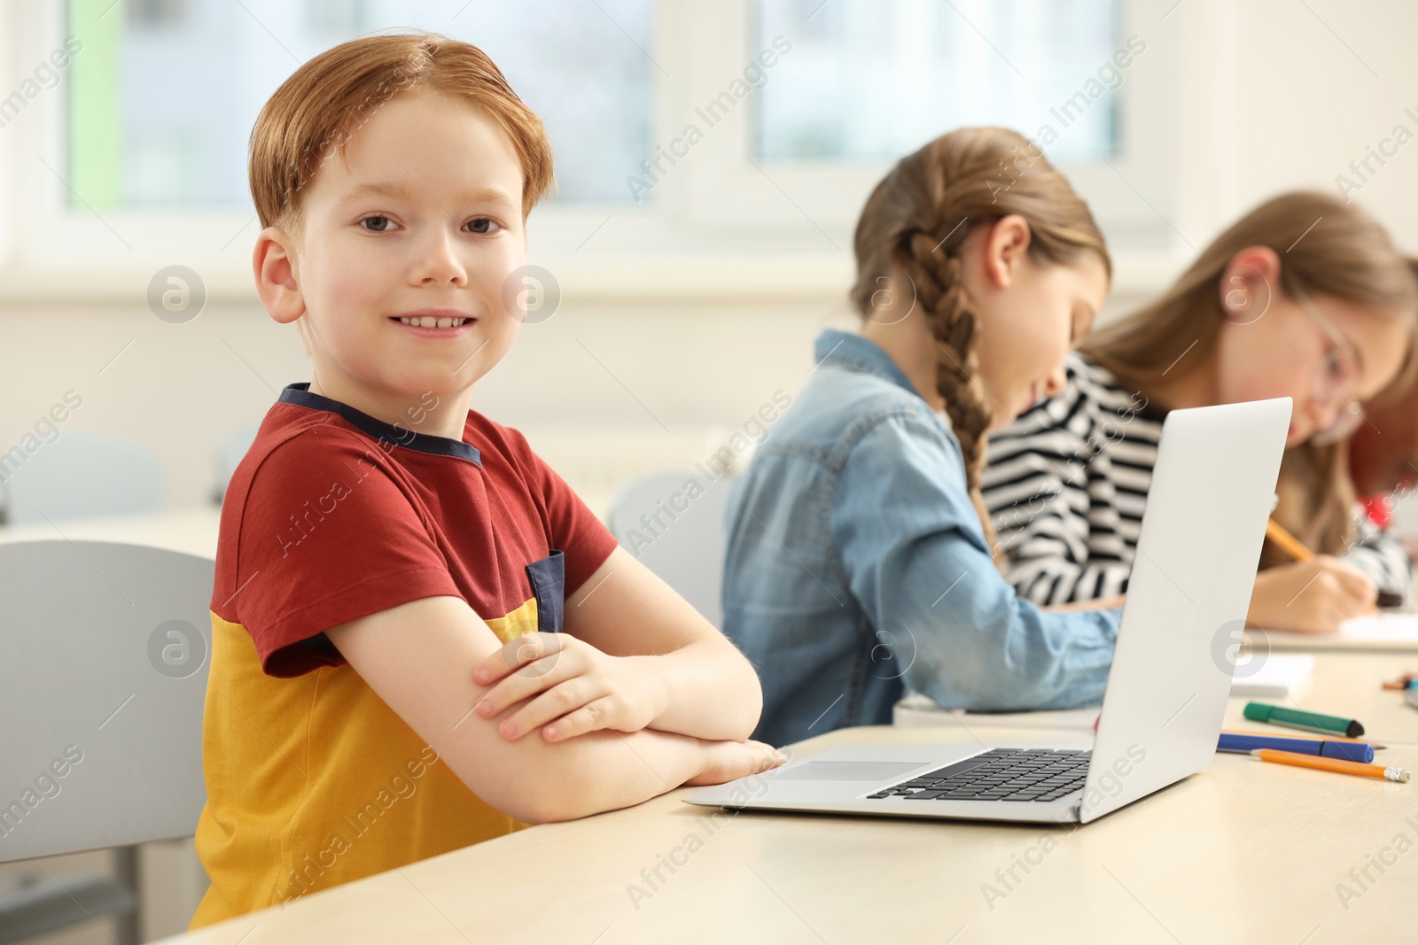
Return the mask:
<path id="1" fill-rule="evenodd" d="M 835 281 L 891 162 L 986 122 L 1039 140 L 1115 249 L 1177 242 L 1180 23 L 1143 0 L 65 0 L 0 17 L 16 82 L 82 43 L 52 81 L 0 89 L 3 235 L 37 271 L 182 262 L 248 286 L 261 105 L 322 50 L 397 28 L 485 48 L 543 118 L 559 190 L 532 256 L 607 292 Z"/>

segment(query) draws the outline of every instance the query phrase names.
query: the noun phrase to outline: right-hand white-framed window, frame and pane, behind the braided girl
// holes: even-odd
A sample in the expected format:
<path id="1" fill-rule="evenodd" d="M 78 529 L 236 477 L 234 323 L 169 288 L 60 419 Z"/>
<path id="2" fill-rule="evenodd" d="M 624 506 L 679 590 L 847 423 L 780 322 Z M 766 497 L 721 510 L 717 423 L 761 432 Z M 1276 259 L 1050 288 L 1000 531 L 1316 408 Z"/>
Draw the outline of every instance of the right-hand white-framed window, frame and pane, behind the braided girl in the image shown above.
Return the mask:
<path id="1" fill-rule="evenodd" d="M 892 160 L 991 122 L 1039 142 L 1115 249 L 1167 252 L 1177 27 L 1141 0 L 686 4 L 662 35 L 666 61 L 692 68 L 668 84 L 658 140 L 672 152 L 675 129 L 702 135 L 657 197 L 725 241 L 844 256 Z"/>

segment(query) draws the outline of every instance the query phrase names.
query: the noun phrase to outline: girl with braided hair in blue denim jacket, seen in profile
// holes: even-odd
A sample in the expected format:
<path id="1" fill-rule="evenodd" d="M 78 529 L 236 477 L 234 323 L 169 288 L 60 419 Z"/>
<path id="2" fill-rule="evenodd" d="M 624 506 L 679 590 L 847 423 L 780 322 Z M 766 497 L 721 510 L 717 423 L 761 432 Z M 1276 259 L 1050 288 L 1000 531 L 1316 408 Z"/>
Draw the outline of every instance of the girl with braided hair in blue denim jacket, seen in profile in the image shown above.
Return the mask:
<path id="1" fill-rule="evenodd" d="M 1020 135 L 903 157 L 856 224 L 861 333 L 817 340 L 807 387 L 729 500 L 725 632 L 763 680 L 773 745 L 946 707 L 1102 700 L 1119 612 L 1045 612 L 993 557 L 986 434 L 1064 383 L 1107 293 L 1085 203 Z"/>

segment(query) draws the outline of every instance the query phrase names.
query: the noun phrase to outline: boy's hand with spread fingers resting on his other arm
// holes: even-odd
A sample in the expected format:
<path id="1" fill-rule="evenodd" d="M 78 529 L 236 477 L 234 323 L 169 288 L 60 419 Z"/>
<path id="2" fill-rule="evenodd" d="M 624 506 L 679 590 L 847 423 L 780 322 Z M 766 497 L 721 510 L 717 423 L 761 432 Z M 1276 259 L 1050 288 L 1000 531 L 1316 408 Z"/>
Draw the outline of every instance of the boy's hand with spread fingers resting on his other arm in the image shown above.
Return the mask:
<path id="1" fill-rule="evenodd" d="M 644 659 L 608 656 L 567 633 L 526 633 L 474 667 L 474 681 L 496 683 L 474 708 L 495 718 L 530 698 L 498 725 L 508 741 L 539 727 L 546 741 L 601 728 L 640 731 L 665 698 Z"/>

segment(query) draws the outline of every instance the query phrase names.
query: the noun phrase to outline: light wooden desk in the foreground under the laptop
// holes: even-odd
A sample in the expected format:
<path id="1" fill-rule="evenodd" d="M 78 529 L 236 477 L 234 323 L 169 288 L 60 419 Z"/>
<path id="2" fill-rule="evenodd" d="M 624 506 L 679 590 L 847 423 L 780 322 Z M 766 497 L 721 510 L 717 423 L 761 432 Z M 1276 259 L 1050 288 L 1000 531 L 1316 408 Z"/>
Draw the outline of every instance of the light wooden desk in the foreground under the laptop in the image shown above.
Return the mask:
<path id="1" fill-rule="evenodd" d="M 1380 679 L 1408 669 L 1418 669 L 1418 659 L 1322 655 L 1300 704 L 1353 714 L 1375 735 L 1412 738 L 1418 711 L 1378 690 Z M 1242 701 L 1234 700 L 1235 717 Z M 990 744 L 1090 744 L 1076 731 L 976 731 Z M 851 741 L 973 738 L 959 727 L 854 728 L 808 740 L 795 754 Z M 1380 759 L 1415 769 L 1418 744 L 1394 744 Z M 1418 938 L 1418 779 L 1387 783 L 1217 755 L 1204 772 L 1086 827 L 713 816 L 682 803 L 685 793 L 533 827 L 167 941 Z M 675 863 L 672 873 L 666 861 Z M 651 876 L 657 867 L 659 881 Z M 1356 881 L 1350 871 L 1366 868 L 1370 878 Z M 1341 898 L 1340 884 L 1351 895 Z"/>

